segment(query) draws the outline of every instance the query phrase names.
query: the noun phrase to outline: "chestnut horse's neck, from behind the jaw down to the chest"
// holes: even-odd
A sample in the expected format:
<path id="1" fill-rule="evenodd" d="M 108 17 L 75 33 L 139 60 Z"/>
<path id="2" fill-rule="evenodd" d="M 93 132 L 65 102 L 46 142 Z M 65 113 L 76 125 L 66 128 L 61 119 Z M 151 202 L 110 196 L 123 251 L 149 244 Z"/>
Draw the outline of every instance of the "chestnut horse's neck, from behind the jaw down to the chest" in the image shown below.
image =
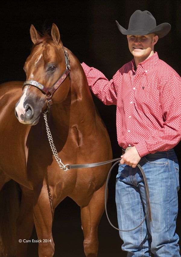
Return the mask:
<path id="1" fill-rule="evenodd" d="M 70 55 L 70 53 L 69 53 Z M 83 127 L 95 124 L 96 111 L 94 102 L 88 87 L 87 79 L 78 59 L 71 54 L 71 83 L 67 99 L 56 104 L 52 110 L 52 117 L 56 117 L 58 126 L 72 127 L 75 124 Z M 68 79 L 68 78 L 67 78 Z"/>

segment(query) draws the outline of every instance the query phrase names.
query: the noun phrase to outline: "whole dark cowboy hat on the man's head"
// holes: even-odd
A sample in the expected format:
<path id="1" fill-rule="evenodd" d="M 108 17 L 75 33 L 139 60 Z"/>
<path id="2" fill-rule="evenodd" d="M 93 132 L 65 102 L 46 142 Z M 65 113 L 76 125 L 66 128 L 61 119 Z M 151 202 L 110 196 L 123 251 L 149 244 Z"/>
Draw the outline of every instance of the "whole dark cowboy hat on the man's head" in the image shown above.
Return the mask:
<path id="1" fill-rule="evenodd" d="M 119 25 L 117 21 L 116 24 L 123 35 L 148 35 L 155 33 L 161 38 L 166 36 L 171 29 L 170 24 L 166 22 L 157 26 L 155 18 L 149 11 L 140 10 L 136 10 L 130 17 L 128 30 Z"/>

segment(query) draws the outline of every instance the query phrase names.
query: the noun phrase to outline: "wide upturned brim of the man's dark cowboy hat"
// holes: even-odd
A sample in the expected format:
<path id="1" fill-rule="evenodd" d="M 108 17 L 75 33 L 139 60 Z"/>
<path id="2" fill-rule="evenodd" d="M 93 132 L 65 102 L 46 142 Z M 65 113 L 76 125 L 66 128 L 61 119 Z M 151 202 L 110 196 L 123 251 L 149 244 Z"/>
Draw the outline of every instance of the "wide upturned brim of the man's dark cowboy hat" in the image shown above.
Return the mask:
<path id="1" fill-rule="evenodd" d="M 162 23 L 162 24 L 156 26 L 151 31 L 136 30 L 136 29 L 134 29 L 134 30 L 132 30 L 132 29 L 126 30 L 117 21 L 116 21 L 116 24 L 118 26 L 119 31 L 123 35 L 148 35 L 148 34 L 155 33 L 155 34 L 157 34 L 158 38 L 161 38 L 161 37 L 166 36 L 169 33 L 170 29 L 171 29 L 170 24 L 167 23 L 167 22 Z"/>

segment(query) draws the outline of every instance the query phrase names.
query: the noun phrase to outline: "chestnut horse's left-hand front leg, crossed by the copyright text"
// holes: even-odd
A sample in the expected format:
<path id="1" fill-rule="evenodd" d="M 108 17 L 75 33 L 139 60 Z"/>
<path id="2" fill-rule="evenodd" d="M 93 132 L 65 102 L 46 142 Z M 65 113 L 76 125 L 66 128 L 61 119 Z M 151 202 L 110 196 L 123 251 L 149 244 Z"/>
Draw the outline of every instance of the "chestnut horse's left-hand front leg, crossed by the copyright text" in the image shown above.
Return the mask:
<path id="1" fill-rule="evenodd" d="M 53 195 L 48 185 L 34 189 L 33 218 L 38 236 L 39 257 L 52 257 L 54 242 L 52 237 Z"/>

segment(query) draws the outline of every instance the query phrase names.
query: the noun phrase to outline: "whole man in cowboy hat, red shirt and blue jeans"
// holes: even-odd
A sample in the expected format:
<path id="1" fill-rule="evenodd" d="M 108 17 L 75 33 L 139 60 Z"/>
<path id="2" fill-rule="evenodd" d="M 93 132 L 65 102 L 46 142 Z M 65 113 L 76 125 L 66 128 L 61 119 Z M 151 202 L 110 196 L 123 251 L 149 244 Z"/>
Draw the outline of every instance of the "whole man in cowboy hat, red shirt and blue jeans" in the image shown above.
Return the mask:
<path id="1" fill-rule="evenodd" d="M 116 127 L 122 159 L 116 180 L 119 229 L 129 230 L 144 219 L 147 208 L 142 166 L 148 180 L 152 222 L 120 232 L 127 256 L 180 256 L 175 233 L 178 213 L 179 167 L 173 147 L 181 138 L 181 78 L 160 60 L 154 45 L 170 31 L 156 26 L 149 11 L 135 11 L 127 35 L 134 59 L 108 81 L 97 69 L 82 67 L 90 89 L 104 104 L 116 104 Z M 126 149 L 126 152 L 125 152 Z"/>

